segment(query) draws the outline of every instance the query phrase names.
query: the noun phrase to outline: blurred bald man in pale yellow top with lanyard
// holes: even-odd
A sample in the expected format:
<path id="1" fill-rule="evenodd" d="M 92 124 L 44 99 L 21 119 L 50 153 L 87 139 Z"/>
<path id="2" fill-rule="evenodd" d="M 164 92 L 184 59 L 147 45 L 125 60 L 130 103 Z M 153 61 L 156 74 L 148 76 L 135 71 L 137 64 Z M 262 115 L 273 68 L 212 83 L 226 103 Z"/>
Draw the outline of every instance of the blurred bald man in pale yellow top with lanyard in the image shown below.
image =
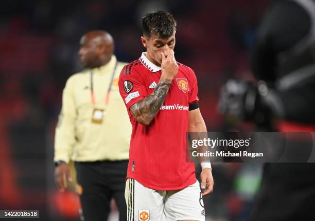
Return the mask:
<path id="1" fill-rule="evenodd" d="M 69 160 L 75 161 L 77 193 L 85 221 L 104 221 L 114 198 L 119 220 L 127 220 L 125 178 L 131 125 L 120 99 L 118 62 L 112 36 L 91 31 L 80 41 L 86 69 L 71 76 L 63 90 L 55 137 L 55 179 L 64 191 L 72 182 Z"/>

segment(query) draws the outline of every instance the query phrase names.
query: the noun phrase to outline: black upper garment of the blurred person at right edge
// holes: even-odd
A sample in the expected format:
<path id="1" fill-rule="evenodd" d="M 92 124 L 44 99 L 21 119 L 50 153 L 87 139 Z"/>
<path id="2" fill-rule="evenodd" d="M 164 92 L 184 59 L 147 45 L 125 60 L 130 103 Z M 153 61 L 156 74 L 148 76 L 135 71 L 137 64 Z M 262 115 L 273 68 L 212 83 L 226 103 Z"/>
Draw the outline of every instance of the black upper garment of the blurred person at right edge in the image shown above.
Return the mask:
<path id="1" fill-rule="evenodd" d="M 261 21 L 251 56 L 254 75 L 274 86 L 284 118 L 304 124 L 315 124 L 315 36 L 308 36 L 313 35 L 314 23 L 296 1 L 276 2 Z M 289 88 L 277 87 L 294 71 L 301 77 L 306 67 L 311 69 L 310 77 L 300 83 L 293 79 Z"/>

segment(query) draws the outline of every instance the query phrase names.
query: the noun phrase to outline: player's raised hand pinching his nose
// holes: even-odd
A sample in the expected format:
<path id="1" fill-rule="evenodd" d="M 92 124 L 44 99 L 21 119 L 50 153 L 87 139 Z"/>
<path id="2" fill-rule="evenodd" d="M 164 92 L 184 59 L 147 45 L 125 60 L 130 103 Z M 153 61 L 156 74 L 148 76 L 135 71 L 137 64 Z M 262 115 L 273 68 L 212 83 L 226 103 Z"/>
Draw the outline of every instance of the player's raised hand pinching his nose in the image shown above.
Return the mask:
<path id="1" fill-rule="evenodd" d="M 162 75 L 161 80 L 167 80 L 167 81 L 173 81 L 173 78 L 178 73 L 178 65 L 176 63 L 175 57 L 174 57 L 174 51 L 170 51 L 167 57 L 165 57 L 165 54 L 161 52 L 162 56 Z"/>

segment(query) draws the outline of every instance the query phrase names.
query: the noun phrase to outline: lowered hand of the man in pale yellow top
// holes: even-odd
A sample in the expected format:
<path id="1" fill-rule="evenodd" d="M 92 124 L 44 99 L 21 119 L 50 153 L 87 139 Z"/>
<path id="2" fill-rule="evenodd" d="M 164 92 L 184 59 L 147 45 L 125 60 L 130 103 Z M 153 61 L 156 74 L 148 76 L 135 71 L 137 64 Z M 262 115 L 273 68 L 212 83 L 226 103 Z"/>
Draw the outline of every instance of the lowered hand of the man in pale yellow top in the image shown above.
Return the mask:
<path id="1" fill-rule="evenodd" d="M 70 170 L 66 163 L 62 163 L 55 168 L 55 182 L 60 191 L 67 188 L 67 180 L 72 182 Z"/>

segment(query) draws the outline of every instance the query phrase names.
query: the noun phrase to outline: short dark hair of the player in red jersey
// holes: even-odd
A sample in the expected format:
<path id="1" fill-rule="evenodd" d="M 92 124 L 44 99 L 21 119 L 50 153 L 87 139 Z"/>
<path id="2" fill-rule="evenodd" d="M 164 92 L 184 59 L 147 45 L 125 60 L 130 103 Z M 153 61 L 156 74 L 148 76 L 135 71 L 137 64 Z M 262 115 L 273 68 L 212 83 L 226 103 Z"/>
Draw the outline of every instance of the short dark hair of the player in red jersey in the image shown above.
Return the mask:
<path id="1" fill-rule="evenodd" d="M 168 38 L 176 31 L 176 25 L 173 16 L 165 11 L 151 12 L 142 17 L 142 32 L 148 37 L 158 35 Z"/>

